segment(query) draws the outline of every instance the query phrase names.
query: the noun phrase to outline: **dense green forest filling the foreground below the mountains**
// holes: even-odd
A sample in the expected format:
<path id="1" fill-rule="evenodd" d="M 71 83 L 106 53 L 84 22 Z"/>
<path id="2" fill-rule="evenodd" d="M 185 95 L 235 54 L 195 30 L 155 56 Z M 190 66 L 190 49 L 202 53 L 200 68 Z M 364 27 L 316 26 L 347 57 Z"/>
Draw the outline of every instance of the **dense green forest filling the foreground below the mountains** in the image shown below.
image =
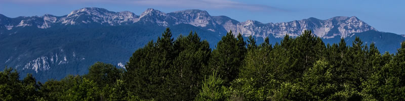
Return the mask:
<path id="1" fill-rule="evenodd" d="M 125 68 L 83 68 L 42 83 L 6 66 L 0 100 L 405 100 L 405 41 L 381 54 L 358 37 L 325 44 L 311 31 L 275 44 L 230 31 L 213 48 L 196 32 L 174 39 L 167 28 Z"/>

